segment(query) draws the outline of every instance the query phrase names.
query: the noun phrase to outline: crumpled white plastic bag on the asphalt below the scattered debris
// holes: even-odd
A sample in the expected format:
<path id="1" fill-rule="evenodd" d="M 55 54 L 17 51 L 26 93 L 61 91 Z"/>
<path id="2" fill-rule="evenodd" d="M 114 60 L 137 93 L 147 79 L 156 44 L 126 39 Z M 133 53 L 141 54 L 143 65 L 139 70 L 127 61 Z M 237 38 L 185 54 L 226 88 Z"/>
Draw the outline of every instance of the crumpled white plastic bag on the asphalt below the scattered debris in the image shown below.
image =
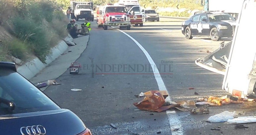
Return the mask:
<path id="1" fill-rule="evenodd" d="M 216 114 L 214 116 L 211 116 L 208 118 L 208 122 L 226 122 L 229 119 L 234 119 L 235 111 L 229 112 L 229 111 L 224 111 L 222 113 Z"/>

